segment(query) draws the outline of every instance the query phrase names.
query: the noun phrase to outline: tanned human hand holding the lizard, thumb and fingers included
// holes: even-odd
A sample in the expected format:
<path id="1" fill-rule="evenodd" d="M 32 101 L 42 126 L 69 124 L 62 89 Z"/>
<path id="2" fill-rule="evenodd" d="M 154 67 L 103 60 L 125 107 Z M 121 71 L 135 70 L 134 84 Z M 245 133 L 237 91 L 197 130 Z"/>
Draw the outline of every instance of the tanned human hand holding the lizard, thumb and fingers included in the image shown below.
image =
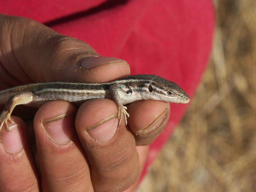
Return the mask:
<path id="1" fill-rule="evenodd" d="M 101 57 L 87 43 L 27 18 L 0 15 L 0 42 L 1 89 L 47 81 L 102 83 L 130 74 L 126 61 Z M 12 116 L 12 132 L 1 133 L 0 191 L 134 191 L 170 106 L 143 100 L 127 107 L 128 125 L 122 120 L 117 128 L 117 106 L 109 99 L 80 108 L 67 101 L 44 104 L 33 121 L 38 164 L 28 122 Z"/>

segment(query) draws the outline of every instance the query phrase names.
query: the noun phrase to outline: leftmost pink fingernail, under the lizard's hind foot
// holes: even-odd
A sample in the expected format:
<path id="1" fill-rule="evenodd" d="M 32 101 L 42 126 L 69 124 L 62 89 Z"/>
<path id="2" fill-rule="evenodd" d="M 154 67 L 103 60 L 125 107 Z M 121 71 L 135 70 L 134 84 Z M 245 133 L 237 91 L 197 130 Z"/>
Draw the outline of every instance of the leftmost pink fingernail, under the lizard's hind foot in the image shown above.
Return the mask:
<path id="1" fill-rule="evenodd" d="M 12 132 L 6 131 L 3 133 L 1 140 L 3 142 L 3 146 L 5 147 L 5 151 L 8 153 L 17 153 L 23 147 L 23 130 L 22 124 L 18 123 L 9 127 Z"/>

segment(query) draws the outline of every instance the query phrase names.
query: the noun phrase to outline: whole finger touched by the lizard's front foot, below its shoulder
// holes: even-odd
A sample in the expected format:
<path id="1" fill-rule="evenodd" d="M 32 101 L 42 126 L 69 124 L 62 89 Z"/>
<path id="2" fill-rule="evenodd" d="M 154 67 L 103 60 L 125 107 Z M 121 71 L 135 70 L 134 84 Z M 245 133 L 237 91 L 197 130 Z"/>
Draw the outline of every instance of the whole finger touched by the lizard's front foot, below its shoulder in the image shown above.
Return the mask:
<path id="1" fill-rule="evenodd" d="M 139 176 L 135 139 L 124 120 L 117 127 L 117 106 L 109 99 L 86 101 L 78 110 L 76 130 L 86 152 L 95 191 L 123 191 Z"/>

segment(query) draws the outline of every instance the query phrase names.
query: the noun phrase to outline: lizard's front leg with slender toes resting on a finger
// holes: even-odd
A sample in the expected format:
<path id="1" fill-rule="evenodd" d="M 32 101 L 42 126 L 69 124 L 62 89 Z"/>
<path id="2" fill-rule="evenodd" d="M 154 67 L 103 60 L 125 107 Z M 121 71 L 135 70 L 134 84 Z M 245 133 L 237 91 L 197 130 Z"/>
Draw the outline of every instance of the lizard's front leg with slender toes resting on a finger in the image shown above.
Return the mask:
<path id="1" fill-rule="evenodd" d="M 126 91 L 124 91 L 124 89 L 119 84 L 112 84 L 109 89 L 110 89 L 112 98 L 118 107 L 118 113 L 117 113 L 118 125 L 117 126 L 119 126 L 121 124 L 123 115 L 125 118 L 125 125 L 127 125 L 127 118 L 129 118 L 130 115 L 127 113 L 127 111 L 126 111 L 127 107 L 125 107 L 123 105 L 123 102 L 121 99 L 121 95 L 127 94 L 127 93 L 126 93 Z"/>

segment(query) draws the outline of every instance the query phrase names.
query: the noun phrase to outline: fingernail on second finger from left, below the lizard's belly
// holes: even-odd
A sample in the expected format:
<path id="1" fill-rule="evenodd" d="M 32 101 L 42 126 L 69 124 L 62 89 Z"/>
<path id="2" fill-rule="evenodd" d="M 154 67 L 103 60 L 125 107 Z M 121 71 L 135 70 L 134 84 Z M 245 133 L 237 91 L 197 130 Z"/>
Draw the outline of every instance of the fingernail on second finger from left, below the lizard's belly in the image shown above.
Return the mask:
<path id="1" fill-rule="evenodd" d="M 74 113 L 66 113 L 42 121 L 48 137 L 57 144 L 66 144 L 71 140 L 75 130 Z"/>

